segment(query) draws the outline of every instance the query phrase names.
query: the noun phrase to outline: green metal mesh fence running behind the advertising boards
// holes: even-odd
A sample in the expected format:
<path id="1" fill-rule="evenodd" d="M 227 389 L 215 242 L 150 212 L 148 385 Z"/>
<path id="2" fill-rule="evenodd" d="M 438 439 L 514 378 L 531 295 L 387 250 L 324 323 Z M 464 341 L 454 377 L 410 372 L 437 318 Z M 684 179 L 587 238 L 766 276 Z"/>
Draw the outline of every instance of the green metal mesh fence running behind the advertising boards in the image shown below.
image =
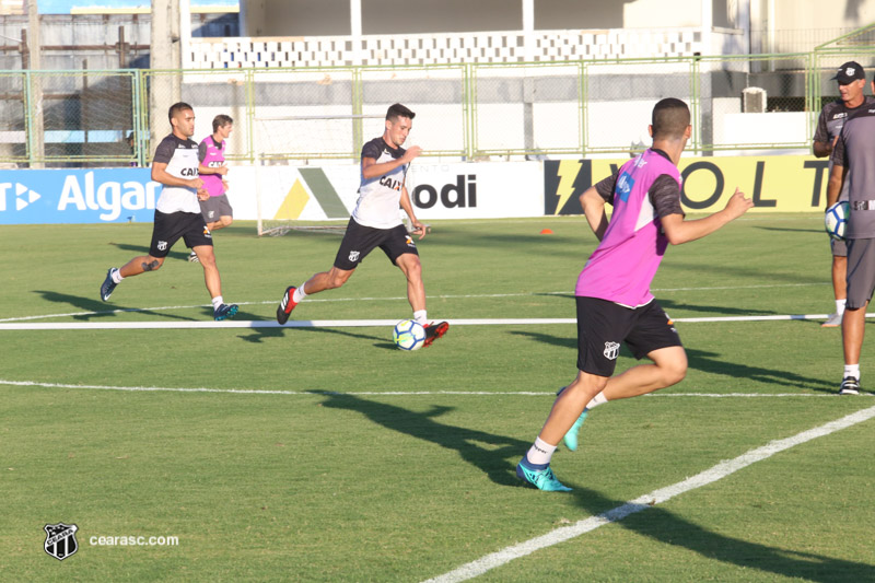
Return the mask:
<path id="1" fill-rule="evenodd" d="M 231 115 L 229 158 L 327 163 L 358 158 L 392 103 L 415 112 L 425 155 L 625 154 L 649 143 L 653 103 L 690 104 L 696 153 L 808 149 L 830 78 L 865 38 L 813 53 L 515 65 L 319 69 L 0 71 L 0 162 L 144 165 L 170 132 L 167 107 L 195 107 L 195 139 Z"/>

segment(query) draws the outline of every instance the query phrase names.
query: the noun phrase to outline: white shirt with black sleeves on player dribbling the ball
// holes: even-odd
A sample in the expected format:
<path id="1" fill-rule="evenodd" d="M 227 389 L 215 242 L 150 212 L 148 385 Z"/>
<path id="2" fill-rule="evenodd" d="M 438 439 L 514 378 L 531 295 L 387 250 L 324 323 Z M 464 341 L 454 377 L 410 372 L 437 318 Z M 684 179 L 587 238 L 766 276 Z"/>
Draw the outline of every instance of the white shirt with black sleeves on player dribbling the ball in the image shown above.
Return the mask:
<path id="1" fill-rule="evenodd" d="M 392 148 L 382 137 L 365 143 L 362 158 L 373 158 L 377 164 L 397 160 L 405 154 L 404 148 Z M 392 229 L 401 224 L 400 208 L 401 188 L 410 164 L 401 164 L 392 172 L 365 179 L 361 175 L 359 200 L 352 218 L 357 223 L 373 229 Z"/>

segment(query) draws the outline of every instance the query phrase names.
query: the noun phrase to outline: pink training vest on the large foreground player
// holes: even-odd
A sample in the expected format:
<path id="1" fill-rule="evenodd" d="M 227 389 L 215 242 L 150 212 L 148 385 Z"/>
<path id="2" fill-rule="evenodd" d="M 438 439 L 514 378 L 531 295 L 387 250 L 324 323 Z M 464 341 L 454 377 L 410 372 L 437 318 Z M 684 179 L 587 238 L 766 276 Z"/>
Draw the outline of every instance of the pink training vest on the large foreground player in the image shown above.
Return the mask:
<path id="1" fill-rule="evenodd" d="M 630 160 L 619 171 L 614 190 L 614 213 L 602 243 L 578 278 L 574 295 L 598 298 L 627 307 L 650 303 L 650 284 L 668 238 L 651 202 L 654 180 L 667 174 L 681 185 L 677 167 L 653 150 Z"/>

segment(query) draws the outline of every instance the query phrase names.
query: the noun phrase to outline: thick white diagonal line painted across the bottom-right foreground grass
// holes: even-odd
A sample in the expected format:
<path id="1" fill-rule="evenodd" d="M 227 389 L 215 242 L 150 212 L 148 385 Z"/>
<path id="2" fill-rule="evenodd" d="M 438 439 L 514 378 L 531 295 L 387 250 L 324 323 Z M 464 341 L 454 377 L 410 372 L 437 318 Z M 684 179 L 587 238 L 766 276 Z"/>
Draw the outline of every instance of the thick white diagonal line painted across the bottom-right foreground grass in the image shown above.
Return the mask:
<path id="1" fill-rule="evenodd" d="M 658 490 L 654 490 L 634 500 L 630 500 L 626 504 L 611 509 L 597 516 L 591 516 L 588 518 L 579 521 L 571 526 L 556 528 L 546 535 L 541 535 L 524 543 L 506 547 L 497 552 L 492 552 L 480 559 L 463 564 L 462 567 L 454 569 L 448 573 L 429 579 L 427 583 L 457 583 L 459 581 L 467 581 L 475 576 L 481 575 L 487 571 L 502 567 L 514 559 L 518 559 L 521 557 L 532 555 L 537 550 L 564 543 L 565 540 L 579 537 L 591 530 L 595 530 L 599 526 L 621 521 L 630 514 L 648 510 L 649 508 L 666 502 L 676 495 L 721 480 L 726 476 L 735 474 L 739 469 L 767 459 L 777 453 L 790 450 L 791 447 L 795 447 L 796 445 L 806 443 L 817 438 L 822 438 L 825 435 L 829 435 L 830 433 L 848 429 L 858 423 L 867 421 L 873 417 L 875 417 L 875 407 L 870 407 L 868 409 L 862 409 L 849 416 L 842 417 L 841 419 L 837 419 L 836 421 L 830 421 L 824 425 L 803 431 L 802 433 L 797 433 L 792 438 L 774 440 L 761 447 L 750 450 L 749 452 L 744 453 L 734 459 L 721 462 L 720 464 L 702 471 L 701 474 L 697 474 L 691 478 L 687 478 L 686 480 L 679 481 L 666 488 L 660 488 Z"/>

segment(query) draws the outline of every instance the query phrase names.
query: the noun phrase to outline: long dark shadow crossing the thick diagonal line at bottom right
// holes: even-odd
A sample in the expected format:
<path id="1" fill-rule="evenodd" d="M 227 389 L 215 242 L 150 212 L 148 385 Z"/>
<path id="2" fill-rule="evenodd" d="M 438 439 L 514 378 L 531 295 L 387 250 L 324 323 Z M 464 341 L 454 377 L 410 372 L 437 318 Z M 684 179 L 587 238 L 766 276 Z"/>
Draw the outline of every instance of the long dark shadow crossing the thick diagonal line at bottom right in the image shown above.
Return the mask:
<path id="1" fill-rule="evenodd" d="M 593 515 L 607 513 L 626 504 L 610 500 L 595 490 L 572 483 L 568 486 L 574 489 L 571 493 L 580 506 Z M 756 512 L 756 509 L 750 509 L 750 512 Z M 705 559 L 734 564 L 742 569 L 824 583 L 875 581 L 873 564 L 771 547 L 721 535 L 658 505 L 643 508 L 615 524 L 661 544 L 691 550 Z"/>

